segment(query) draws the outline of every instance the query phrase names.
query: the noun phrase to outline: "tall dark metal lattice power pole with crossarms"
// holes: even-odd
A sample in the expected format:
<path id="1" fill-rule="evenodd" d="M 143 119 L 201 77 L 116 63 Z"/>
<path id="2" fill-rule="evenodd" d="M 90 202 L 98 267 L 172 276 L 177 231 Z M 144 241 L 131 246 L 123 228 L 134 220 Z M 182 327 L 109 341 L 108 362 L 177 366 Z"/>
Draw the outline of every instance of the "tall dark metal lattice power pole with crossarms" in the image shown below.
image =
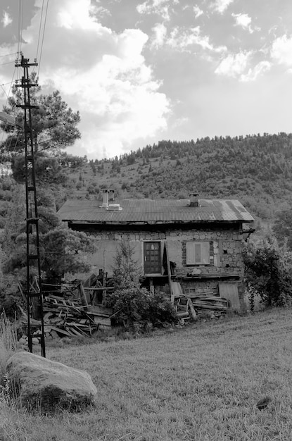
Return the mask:
<path id="1" fill-rule="evenodd" d="M 41 261 L 39 255 L 39 218 L 37 213 L 37 189 L 34 169 L 34 146 L 35 137 L 32 128 L 32 109 L 39 108 L 31 104 L 30 88 L 37 85 L 32 83 L 28 74 L 30 66 L 37 66 L 37 63 L 29 63 L 29 58 L 22 55 L 20 60 L 15 61 L 15 67 L 23 68 L 21 83 L 16 87 L 23 89 L 23 104 L 18 107 L 24 110 L 24 135 L 25 135 L 25 199 L 26 199 L 26 267 L 27 267 L 27 338 L 28 348 L 32 352 L 32 338 L 41 338 L 42 356 L 46 356 L 44 343 L 44 313 L 43 294 L 41 279 Z M 37 267 L 37 282 L 33 281 L 32 267 Z M 35 334 L 31 318 L 41 319 L 41 334 Z"/>

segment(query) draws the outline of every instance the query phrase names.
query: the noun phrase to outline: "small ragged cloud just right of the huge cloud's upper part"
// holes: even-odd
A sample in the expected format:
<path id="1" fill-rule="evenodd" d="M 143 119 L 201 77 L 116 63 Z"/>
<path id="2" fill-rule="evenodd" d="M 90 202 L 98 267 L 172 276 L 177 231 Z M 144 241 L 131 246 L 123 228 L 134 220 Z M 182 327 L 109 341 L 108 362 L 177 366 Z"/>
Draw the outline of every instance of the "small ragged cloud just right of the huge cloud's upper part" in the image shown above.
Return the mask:
<path id="1" fill-rule="evenodd" d="M 182 30 L 180 27 L 174 27 L 170 34 L 170 38 L 167 39 L 167 44 L 172 48 L 188 51 L 189 46 L 197 45 L 202 49 L 208 49 L 215 52 L 226 51 L 225 46 L 213 46 L 210 43 L 208 35 L 201 35 L 200 26 L 191 27 L 189 30 Z"/>

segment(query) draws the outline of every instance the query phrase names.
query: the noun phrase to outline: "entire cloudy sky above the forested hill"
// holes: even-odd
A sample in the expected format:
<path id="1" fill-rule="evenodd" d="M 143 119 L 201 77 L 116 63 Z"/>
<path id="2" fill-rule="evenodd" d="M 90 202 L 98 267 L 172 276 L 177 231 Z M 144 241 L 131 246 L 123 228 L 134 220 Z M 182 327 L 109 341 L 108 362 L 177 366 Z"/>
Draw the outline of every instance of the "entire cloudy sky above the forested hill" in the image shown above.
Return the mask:
<path id="1" fill-rule="evenodd" d="M 292 131 L 291 0 L 2 0 L 0 108 L 23 51 L 80 111 L 68 153 Z"/>

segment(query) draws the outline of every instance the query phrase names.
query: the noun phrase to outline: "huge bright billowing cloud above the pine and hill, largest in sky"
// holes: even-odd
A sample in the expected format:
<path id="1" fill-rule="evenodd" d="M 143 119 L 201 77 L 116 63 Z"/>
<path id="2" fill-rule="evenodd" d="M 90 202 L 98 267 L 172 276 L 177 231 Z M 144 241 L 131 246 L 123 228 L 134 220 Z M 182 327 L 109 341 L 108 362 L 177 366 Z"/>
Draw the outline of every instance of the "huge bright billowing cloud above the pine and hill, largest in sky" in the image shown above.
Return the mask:
<path id="1" fill-rule="evenodd" d="M 76 145 L 83 154 L 119 155 L 135 140 L 167 128 L 170 101 L 142 54 L 144 32 L 117 34 L 103 27 L 90 15 L 90 0 L 51 0 L 48 14 L 39 83 L 44 93 L 59 89 L 80 111 L 82 139 Z M 38 32 L 36 15 L 23 31 L 30 58 Z"/>

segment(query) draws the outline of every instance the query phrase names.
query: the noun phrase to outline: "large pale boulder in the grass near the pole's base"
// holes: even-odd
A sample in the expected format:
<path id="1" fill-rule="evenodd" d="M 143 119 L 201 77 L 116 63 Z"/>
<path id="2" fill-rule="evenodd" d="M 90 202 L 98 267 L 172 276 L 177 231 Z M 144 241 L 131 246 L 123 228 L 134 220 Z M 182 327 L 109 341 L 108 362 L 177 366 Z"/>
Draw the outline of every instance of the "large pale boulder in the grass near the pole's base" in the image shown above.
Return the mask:
<path id="1" fill-rule="evenodd" d="M 97 393 L 87 372 L 30 352 L 13 354 L 6 373 L 16 397 L 29 409 L 82 409 L 94 402 Z"/>

